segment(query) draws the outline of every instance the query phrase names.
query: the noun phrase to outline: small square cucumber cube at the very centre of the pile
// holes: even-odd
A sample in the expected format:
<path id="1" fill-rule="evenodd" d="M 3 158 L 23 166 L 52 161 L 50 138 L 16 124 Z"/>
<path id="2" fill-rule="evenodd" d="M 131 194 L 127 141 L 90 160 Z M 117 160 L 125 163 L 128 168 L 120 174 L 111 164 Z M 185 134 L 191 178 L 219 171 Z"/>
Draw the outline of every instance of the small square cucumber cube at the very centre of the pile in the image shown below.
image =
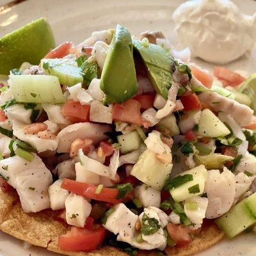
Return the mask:
<path id="1" fill-rule="evenodd" d="M 122 154 L 138 149 L 141 143 L 141 138 L 137 131 L 118 135 L 117 140 Z"/>

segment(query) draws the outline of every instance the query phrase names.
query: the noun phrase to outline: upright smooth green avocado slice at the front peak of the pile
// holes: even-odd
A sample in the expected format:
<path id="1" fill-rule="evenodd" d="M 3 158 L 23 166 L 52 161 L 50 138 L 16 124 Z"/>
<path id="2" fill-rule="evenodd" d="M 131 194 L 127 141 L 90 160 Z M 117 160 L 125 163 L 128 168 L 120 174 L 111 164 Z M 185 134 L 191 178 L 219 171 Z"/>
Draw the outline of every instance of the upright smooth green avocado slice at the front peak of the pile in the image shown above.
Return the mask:
<path id="1" fill-rule="evenodd" d="M 109 45 L 100 77 L 100 89 L 105 93 L 106 104 L 122 103 L 138 90 L 131 34 L 119 24 Z"/>

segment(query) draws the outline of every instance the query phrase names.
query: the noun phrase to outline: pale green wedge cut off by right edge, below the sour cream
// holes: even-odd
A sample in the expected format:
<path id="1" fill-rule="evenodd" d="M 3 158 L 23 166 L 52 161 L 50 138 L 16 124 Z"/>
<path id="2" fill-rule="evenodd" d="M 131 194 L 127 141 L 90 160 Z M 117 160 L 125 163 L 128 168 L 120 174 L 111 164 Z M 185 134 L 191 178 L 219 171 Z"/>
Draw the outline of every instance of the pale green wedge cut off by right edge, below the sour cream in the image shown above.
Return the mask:
<path id="1" fill-rule="evenodd" d="M 250 107 L 256 113 L 256 73 L 249 76 L 241 86 L 239 86 L 238 92 L 244 93 L 252 100 Z"/>

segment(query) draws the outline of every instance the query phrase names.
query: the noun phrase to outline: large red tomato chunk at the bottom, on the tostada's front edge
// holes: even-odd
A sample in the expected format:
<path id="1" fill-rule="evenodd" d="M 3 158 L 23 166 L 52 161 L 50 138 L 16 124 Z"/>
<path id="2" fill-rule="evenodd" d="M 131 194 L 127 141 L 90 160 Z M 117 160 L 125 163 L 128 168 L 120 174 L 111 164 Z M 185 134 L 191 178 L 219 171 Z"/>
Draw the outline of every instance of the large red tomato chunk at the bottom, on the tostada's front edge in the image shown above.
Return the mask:
<path id="1" fill-rule="evenodd" d="M 102 226 L 96 229 L 72 227 L 67 234 L 58 240 L 58 246 L 63 251 L 95 250 L 105 239 L 106 229 Z"/>

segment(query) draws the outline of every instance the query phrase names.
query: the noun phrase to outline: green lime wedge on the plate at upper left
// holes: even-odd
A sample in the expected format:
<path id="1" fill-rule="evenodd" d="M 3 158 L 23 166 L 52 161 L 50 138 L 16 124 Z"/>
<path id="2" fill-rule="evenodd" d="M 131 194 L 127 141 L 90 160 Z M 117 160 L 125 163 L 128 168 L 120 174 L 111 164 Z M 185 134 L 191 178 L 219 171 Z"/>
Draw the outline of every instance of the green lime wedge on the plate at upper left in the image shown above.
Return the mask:
<path id="1" fill-rule="evenodd" d="M 24 61 L 38 64 L 54 47 L 54 36 L 47 20 L 34 20 L 0 38 L 0 74 L 8 75 Z"/>

